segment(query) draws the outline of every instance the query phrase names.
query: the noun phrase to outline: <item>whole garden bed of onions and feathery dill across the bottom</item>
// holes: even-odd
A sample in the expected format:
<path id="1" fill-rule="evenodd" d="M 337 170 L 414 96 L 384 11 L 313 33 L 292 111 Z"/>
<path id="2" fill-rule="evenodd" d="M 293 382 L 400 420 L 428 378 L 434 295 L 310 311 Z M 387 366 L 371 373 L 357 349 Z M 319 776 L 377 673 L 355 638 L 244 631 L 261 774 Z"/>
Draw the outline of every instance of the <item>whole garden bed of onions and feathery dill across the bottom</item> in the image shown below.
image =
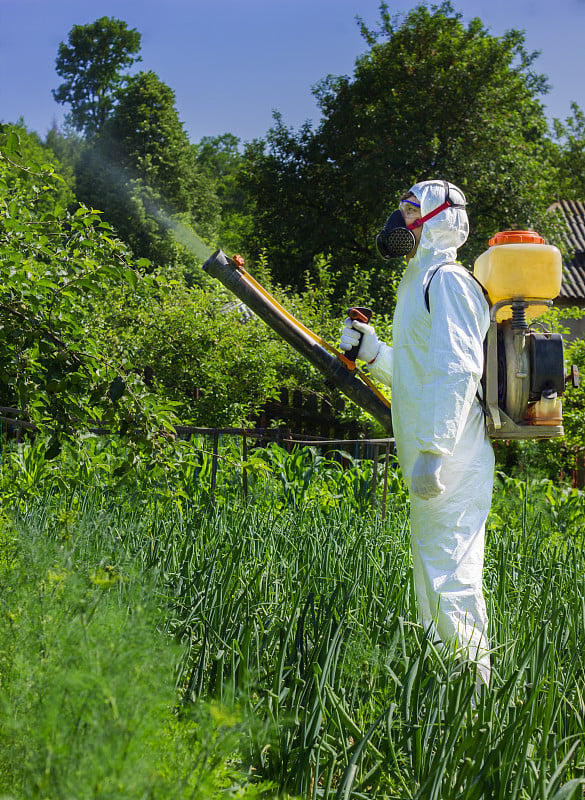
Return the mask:
<path id="1" fill-rule="evenodd" d="M 202 755 L 201 737 L 213 734 L 211 712 L 201 709 L 211 707 L 215 728 L 245 730 L 229 745 L 242 791 L 272 796 L 246 773 L 302 798 L 581 797 L 583 498 L 502 480 L 486 557 L 493 679 L 476 702 L 473 666 L 438 652 L 416 622 L 401 492 L 385 522 L 350 501 L 318 502 L 310 491 L 310 502 L 291 494 L 288 505 L 276 492 L 244 503 L 224 491 L 211 508 L 199 496 L 113 497 L 86 484 L 28 502 L 11 529 L 15 560 L 3 575 L 12 577 L 2 579 L 20 597 L 3 591 L 2 619 L 16 613 L 23 635 L 10 644 L 14 620 L 3 622 L 8 677 L 0 696 L 12 720 L 0 748 L 5 772 L 13 770 L 23 797 L 71 796 L 79 775 L 85 783 L 75 796 L 158 796 L 163 786 L 169 797 L 191 796 L 169 783 L 171 774 L 185 775 L 169 747 L 185 755 L 186 742 L 198 743 L 191 763 L 201 785 L 218 763 L 229 766 L 221 748 L 219 761 Z M 35 573 L 27 559 L 40 552 L 48 555 Z M 54 622 L 41 624 L 49 596 L 57 598 Z M 26 624 L 20 607 L 30 609 Z M 47 650 L 54 631 L 61 633 Z M 31 695 L 30 685 L 51 684 L 42 677 L 46 652 L 63 680 Z M 108 675 L 119 676 L 111 679 L 119 698 L 108 694 Z M 125 727 L 111 696 L 125 709 Z M 173 706 L 180 711 L 169 712 Z M 188 722 L 191 713 L 199 721 Z M 59 744 L 51 720 L 63 715 L 70 722 Z M 120 749 L 118 738 L 108 751 L 121 729 L 135 750 Z M 107 741 L 98 744 L 100 730 Z M 9 758 L 19 742 L 32 761 L 7 767 L 20 764 Z M 110 765 L 104 774 L 83 760 L 83 750 L 100 748 Z M 63 762 L 65 771 L 46 772 L 47 763 Z M 30 787 L 45 774 L 53 783 L 35 795 Z M 102 787 L 118 781 L 126 794 L 96 794 L 90 775 Z M 201 797 L 222 791 L 213 780 Z M 194 792 L 192 778 L 189 785 Z"/>

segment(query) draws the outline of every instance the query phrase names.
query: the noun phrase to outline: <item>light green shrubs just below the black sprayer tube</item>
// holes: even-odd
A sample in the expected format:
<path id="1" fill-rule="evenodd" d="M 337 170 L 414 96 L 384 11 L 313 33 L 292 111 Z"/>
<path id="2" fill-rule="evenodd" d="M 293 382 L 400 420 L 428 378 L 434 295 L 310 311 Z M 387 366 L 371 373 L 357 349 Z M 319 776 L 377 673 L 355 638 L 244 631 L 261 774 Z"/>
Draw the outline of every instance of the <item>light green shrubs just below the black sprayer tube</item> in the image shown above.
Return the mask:
<path id="1" fill-rule="evenodd" d="M 152 376 L 183 423 L 243 424 L 282 388 L 323 390 L 308 362 L 223 287 L 155 277 L 156 291 L 108 291 L 91 324 L 112 352 Z M 303 311 L 313 316 L 308 302 Z"/>

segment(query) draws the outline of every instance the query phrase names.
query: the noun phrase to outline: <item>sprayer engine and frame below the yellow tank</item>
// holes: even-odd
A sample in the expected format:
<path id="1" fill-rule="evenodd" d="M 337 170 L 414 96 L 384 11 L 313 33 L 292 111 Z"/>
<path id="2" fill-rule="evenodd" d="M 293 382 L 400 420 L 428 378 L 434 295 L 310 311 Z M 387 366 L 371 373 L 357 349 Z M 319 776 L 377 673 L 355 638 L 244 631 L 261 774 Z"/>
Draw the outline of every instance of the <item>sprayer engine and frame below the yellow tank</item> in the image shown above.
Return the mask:
<path id="1" fill-rule="evenodd" d="M 502 301 L 490 310 L 482 386 L 488 433 L 494 439 L 549 439 L 564 434 L 563 338 L 541 323 L 527 322 L 526 309 L 534 304 L 542 306 L 543 300 Z M 504 306 L 511 306 L 512 317 L 497 322 Z M 576 367 L 569 379 L 577 385 Z"/>

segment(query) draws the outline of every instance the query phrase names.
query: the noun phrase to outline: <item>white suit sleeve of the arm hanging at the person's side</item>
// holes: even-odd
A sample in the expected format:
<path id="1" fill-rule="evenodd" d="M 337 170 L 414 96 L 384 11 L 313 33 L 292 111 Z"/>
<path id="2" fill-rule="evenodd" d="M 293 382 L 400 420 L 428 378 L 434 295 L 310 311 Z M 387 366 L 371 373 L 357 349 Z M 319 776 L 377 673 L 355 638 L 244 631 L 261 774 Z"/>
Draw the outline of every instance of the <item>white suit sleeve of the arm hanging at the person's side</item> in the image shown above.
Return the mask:
<path id="1" fill-rule="evenodd" d="M 489 307 L 462 267 L 438 270 L 429 288 L 431 332 L 417 424 L 417 446 L 451 455 L 483 373 Z"/>

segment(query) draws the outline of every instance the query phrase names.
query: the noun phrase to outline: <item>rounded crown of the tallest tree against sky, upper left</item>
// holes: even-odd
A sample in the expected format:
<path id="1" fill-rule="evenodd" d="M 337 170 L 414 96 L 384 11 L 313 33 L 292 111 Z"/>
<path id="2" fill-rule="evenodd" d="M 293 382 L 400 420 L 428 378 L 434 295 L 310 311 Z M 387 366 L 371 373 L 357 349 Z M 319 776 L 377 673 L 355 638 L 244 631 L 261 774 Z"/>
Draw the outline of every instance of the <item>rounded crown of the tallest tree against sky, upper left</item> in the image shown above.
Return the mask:
<path id="1" fill-rule="evenodd" d="M 61 42 L 56 60 L 63 83 L 53 90 L 62 105 L 71 105 L 68 120 L 78 131 L 93 136 L 101 130 L 122 84 L 121 70 L 140 61 L 140 33 L 113 17 L 89 25 L 74 25 L 68 44 Z"/>

